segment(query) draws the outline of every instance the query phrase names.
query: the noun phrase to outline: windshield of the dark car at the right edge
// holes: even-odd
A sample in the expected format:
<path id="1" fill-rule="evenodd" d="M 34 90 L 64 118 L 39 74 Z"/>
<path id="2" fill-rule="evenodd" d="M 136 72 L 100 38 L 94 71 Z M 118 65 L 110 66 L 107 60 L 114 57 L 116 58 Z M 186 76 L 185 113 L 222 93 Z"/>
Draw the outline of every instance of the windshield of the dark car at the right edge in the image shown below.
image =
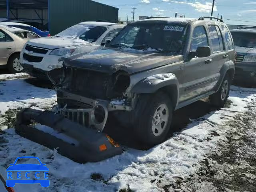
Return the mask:
<path id="1" fill-rule="evenodd" d="M 256 48 L 256 33 L 232 32 L 235 46 Z"/>

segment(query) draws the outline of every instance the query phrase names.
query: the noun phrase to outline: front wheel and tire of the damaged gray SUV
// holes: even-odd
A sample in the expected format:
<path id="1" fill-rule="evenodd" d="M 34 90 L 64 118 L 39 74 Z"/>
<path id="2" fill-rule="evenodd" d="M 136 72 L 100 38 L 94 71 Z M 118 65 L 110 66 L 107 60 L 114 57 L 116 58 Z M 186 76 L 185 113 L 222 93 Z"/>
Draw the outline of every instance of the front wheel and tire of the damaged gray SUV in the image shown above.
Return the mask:
<path id="1" fill-rule="evenodd" d="M 144 99 L 143 97 L 140 98 L 140 100 Z M 140 105 L 140 103 L 138 103 L 140 109 L 134 126 L 138 140 L 148 146 L 164 142 L 172 122 L 173 106 L 171 99 L 164 92 L 157 92 L 149 96 L 146 106 Z"/>

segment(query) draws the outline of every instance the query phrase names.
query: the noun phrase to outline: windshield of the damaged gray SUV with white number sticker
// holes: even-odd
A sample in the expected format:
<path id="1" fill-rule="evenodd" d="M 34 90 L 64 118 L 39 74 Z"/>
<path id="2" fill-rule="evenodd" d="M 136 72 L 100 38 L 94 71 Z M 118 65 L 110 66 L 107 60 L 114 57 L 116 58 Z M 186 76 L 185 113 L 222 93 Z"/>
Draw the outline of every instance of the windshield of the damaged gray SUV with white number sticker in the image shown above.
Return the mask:
<path id="1" fill-rule="evenodd" d="M 177 52 L 183 50 L 185 25 L 173 24 L 133 24 L 128 25 L 112 40 L 110 46 L 150 50 L 158 52 Z"/>

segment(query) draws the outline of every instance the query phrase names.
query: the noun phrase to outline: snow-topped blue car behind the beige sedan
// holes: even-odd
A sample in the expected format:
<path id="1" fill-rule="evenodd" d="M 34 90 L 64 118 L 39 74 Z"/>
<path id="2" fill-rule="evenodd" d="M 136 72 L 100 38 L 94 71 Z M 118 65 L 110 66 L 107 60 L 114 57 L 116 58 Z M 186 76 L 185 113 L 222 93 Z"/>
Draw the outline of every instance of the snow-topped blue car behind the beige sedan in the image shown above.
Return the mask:
<path id="1" fill-rule="evenodd" d="M 5 26 L 10 26 L 10 27 L 16 27 L 16 28 L 20 28 L 20 29 L 25 29 L 28 31 L 32 31 L 36 34 L 38 34 L 40 37 L 47 37 L 50 36 L 50 33 L 48 31 L 42 31 L 39 30 L 36 27 L 27 25 L 27 24 L 23 24 L 23 23 L 17 23 L 17 22 L 1 22 L 0 25 L 5 25 Z"/>

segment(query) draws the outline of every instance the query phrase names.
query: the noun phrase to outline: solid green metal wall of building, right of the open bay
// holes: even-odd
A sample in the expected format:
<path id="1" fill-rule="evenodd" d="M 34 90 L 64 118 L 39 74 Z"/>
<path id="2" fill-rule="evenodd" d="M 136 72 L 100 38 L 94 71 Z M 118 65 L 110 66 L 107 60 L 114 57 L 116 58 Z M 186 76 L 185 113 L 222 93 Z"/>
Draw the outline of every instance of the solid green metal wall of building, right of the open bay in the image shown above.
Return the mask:
<path id="1" fill-rule="evenodd" d="M 118 22 L 118 8 L 91 0 L 48 0 L 49 28 L 56 34 L 83 21 Z"/>

